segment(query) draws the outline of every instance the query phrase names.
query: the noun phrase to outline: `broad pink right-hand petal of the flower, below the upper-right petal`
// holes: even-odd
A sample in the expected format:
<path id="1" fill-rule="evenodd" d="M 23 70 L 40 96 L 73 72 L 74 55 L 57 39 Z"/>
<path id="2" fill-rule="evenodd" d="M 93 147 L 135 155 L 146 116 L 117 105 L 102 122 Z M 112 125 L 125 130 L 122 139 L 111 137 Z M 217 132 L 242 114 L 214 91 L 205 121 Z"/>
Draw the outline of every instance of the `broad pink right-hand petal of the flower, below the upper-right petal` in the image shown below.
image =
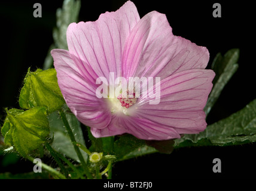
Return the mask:
<path id="1" fill-rule="evenodd" d="M 199 133 L 207 125 L 203 108 L 214 76 L 212 70 L 203 69 L 185 70 L 169 76 L 161 81 L 160 103 L 150 104 L 149 101 L 154 99 L 150 97 L 139 98 L 133 107 L 133 116 L 167 125 L 179 134 Z"/>

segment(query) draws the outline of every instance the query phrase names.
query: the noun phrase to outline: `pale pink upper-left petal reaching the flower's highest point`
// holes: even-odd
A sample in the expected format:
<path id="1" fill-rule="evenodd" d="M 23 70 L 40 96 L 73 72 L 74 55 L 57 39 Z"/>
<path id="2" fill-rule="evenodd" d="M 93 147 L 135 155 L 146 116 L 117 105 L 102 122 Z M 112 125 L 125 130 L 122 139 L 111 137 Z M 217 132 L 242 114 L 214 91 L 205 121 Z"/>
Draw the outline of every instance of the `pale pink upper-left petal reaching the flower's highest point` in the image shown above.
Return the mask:
<path id="1" fill-rule="evenodd" d="M 135 5 L 128 1 L 115 12 L 101 14 L 97 21 L 70 24 L 68 48 L 78 58 L 75 62 L 81 72 L 90 73 L 94 81 L 99 76 L 109 79 L 109 72 L 120 76 L 124 44 L 138 20 Z"/>

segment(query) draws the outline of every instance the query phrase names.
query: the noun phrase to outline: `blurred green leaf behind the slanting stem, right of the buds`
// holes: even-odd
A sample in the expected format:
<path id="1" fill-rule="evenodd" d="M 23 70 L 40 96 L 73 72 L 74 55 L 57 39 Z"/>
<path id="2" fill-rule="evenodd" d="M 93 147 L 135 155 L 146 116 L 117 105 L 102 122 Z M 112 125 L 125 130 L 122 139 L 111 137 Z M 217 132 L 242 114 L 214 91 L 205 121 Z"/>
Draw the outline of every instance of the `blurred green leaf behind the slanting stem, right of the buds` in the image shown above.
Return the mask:
<path id="1" fill-rule="evenodd" d="M 83 146 L 86 146 L 80 122 L 77 120 L 75 115 L 71 113 L 66 113 L 66 118 L 68 119 L 69 125 L 72 128 L 75 140 L 77 140 L 78 143 L 83 144 Z M 69 158 L 79 161 L 77 153 L 74 149 L 74 145 L 71 142 L 68 133 L 66 132 L 59 114 L 57 112 L 51 113 L 48 116 L 48 121 L 50 124 L 50 132 L 53 136 L 53 143 L 51 143 L 51 146 Z M 81 150 L 81 153 L 84 159 L 87 159 L 88 155 L 83 150 Z"/>

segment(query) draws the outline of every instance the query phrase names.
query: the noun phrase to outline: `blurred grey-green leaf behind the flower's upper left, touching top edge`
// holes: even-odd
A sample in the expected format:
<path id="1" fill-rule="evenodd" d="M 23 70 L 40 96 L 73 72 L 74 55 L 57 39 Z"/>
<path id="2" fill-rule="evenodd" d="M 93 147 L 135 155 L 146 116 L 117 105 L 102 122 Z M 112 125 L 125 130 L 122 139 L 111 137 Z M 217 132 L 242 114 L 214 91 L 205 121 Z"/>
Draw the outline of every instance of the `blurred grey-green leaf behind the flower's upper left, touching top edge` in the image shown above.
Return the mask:
<path id="1" fill-rule="evenodd" d="M 53 39 L 57 48 L 68 50 L 66 29 L 70 23 L 78 21 L 80 7 L 80 1 L 65 0 L 62 8 L 57 9 L 57 27 L 53 30 Z"/>

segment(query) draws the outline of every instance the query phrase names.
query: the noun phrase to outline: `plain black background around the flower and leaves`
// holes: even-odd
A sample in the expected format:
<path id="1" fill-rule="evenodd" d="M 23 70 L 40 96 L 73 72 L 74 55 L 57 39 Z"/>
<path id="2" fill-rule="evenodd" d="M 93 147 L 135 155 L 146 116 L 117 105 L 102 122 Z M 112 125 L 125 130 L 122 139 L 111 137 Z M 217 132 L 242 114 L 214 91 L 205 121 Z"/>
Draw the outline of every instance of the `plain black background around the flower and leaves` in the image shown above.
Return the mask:
<path id="1" fill-rule="evenodd" d="M 33 4 L 42 5 L 42 18 L 33 17 Z M 115 11 L 126 1 L 82 1 L 80 21 L 97 20 L 105 11 Z M 255 94 L 255 17 L 248 1 L 133 1 L 141 17 L 150 11 L 164 13 L 173 34 L 207 47 L 209 65 L 217 53 L 240 49 L 239 69 L 228 82 L 209 114 L 208 124 L 226 118 L 256 98 Z M 212 16 L 212 5 L 221 4 L 221 18 Z M 1 1 L 1 96 L 0 120 L 4 108 L 19 108 L 18 97 L 28 67 L 42 68 L 56 9 L 62 1 Z M 174 150 L 170 155 L 156 153 L 114 165 L 113 178 L 256 178 L 256 144 L 230 147 L 191 147 Z M 212 161 L 220 158 L 222 172 L 212 172 Z M 0 156 L 0 173 L 32 171 L 31 162 Z M 4 162 L 3 162 L 4 161 Z"/>

